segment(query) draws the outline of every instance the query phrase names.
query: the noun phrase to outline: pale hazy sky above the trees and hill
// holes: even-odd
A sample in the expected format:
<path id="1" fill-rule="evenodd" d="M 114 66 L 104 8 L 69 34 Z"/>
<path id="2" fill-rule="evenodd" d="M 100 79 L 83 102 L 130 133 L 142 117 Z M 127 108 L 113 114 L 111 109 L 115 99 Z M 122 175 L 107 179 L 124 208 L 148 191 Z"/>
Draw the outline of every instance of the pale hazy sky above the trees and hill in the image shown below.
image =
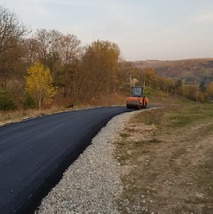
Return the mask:
<path id="1" fill-rule="evenodd" d="M 213 0 L 0 0 L 33 32 L 74 34 L 82 45 L 116 43 L 123 58 L 213 57 Z"/>

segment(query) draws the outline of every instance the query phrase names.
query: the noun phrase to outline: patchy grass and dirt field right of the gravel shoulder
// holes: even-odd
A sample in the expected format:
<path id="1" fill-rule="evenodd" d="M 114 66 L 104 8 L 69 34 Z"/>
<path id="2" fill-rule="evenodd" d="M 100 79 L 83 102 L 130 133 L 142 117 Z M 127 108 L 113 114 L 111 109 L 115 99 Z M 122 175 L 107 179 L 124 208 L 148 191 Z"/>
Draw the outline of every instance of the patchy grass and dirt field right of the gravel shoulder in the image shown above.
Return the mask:
<path id="1" fill-rule="evenodd" d="M 210 146 L 205 149 L 202 140 L 211 139 L 212 121 L 213 104 L 195 103 L 184 98 L 173 101 L 169 98 L 169 105 L 136 114 L 131 124 L 157 128 L 147 139 L 135 142 L 129 140 L 134 134 L 131 128 L 127 127 L 120 135 L 122 143 L 117 144 L 116 155 L 120 155 L 121 165 L 130 169 L 122 176 L 125 188 L 121 199 L 130 203 L 119 203 L 120 210 L 128 213 L 124 211 L 128 207 L 137 213 L 133 207 L 140 205 L 150 211 L 147 213 L 155 208 L 169 209 L 165 213 L 171 214 L 211 213 L 213 149 Z M 199 154 L 199 148 L 204 153 Z M 193 162 L 194 159 L 197 162 Z M 171 192 L 174 195 L 169 195 Z M 144 198 L 141 199 L 141 195 Z M 155 206 L 150 201 L 154 201 Z"/>

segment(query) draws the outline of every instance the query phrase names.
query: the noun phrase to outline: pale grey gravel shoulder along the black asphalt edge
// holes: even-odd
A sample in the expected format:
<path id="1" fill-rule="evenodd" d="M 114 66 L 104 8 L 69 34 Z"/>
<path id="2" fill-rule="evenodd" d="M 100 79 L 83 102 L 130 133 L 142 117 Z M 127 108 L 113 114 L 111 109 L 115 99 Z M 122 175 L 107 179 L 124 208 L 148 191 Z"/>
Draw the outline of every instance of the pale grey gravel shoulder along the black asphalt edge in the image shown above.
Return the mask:
<path id="1" fill-rule="evenodd" d="M 116 198 L 122 185 L 113 142 L 133 114 L 124 113 L 109 121 L 43 199 L 36 213 L 119 213 Z"/>

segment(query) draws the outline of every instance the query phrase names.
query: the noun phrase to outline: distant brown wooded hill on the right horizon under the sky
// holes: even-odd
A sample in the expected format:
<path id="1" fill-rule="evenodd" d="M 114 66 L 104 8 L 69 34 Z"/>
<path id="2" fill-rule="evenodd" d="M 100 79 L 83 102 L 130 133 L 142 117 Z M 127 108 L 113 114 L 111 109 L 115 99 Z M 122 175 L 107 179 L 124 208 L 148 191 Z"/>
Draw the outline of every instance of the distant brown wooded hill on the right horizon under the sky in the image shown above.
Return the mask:
<path id="1" fill-rule="evenodd" d="M 133 67 L 153 68 L 159 76 L 182 79 L 188 84 L 206 84 L 213 81 L 213 58 L 134 61 Z"/>

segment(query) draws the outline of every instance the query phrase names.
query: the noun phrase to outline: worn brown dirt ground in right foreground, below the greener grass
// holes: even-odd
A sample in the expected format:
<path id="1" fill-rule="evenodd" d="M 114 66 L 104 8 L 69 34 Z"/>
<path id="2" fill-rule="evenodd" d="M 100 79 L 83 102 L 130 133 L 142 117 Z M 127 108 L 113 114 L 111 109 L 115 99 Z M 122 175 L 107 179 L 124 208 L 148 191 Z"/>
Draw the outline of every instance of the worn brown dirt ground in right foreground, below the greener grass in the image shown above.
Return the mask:
<path id="1" fill-rule="evenodd" d="M 212 214 L 213 121 L 156 129 L 131 123 L 121 134 L 122 213 Z"/>

